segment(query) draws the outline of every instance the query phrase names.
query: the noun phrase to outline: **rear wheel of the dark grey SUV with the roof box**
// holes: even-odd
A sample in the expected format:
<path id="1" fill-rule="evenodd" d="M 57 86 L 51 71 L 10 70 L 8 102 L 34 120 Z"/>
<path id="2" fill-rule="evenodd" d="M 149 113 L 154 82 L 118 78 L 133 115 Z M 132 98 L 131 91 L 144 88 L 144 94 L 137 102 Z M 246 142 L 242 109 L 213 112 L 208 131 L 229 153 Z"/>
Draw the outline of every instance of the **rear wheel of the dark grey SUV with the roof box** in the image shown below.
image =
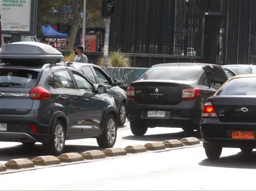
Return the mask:
<path id="1" fill-rule="evenodd" d="M 61 155 L 65 148 L 65 125 L 59 119 L 53 126 L 51 139 L 48 143 L 43 144 L 43 147 L 47 153 L 52 155 Z"/>

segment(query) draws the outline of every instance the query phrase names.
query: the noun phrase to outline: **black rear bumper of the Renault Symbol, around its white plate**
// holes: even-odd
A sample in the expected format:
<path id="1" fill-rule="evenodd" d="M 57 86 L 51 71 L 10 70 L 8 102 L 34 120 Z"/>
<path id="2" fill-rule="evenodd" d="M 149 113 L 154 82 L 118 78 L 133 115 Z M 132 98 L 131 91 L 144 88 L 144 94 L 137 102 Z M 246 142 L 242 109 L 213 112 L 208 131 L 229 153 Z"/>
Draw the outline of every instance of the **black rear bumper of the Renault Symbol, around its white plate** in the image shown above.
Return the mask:
<path id="1" fill-rule="evenodd" d="M 199 100 L 181 101 L 177 105 L 138 104 L 134 99 L 126 101 L 126 118 L 132 122 L 142 122 L 149 127 L 163 126 L 183 128 L 199 126 L 203 104 Z M 166 111 L 163 118 L 151 118 L 148 111 Z"/>

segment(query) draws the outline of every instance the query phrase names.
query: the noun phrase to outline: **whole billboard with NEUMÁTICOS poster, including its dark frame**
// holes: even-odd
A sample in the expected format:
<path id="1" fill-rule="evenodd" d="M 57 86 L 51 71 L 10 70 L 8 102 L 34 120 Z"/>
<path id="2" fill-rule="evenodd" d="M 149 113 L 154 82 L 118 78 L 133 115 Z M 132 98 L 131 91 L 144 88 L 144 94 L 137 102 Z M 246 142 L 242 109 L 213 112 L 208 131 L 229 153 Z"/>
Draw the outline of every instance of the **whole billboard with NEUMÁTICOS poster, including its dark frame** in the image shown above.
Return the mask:
<path id="1" fill-rule="evenodd" d="M 0 0 L 3 34 L 36 33 L 37 0 Z"/>

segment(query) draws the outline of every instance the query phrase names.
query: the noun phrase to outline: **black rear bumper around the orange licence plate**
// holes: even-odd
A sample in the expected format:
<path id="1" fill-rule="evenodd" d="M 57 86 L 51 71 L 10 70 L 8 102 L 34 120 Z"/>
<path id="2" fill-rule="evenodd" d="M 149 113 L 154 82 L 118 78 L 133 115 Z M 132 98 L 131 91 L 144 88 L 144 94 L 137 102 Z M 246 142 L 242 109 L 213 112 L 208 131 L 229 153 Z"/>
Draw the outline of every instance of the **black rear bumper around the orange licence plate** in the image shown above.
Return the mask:
<path id="1" fill-rule="evenodd" d="M 218 118 L 203 118 L 200 123 L 200 131 L 204 141 L 204 147 L 219 145 L 227 148 L 247 146 L 256 148 L 256 136 L 254 139 L 232 138 L 232 131 L 254 131 L 256 135 L 256 123 L 230 123 L 220 122 Z"/>

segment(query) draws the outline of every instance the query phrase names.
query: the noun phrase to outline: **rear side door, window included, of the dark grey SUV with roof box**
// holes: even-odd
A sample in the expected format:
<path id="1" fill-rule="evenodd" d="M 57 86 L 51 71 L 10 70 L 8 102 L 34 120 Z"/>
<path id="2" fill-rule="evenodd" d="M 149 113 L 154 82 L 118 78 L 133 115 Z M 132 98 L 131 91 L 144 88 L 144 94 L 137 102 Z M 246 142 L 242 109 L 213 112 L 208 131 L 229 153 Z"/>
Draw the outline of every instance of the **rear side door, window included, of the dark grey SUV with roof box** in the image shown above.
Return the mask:
<path id="1" fill-rule="evenodd" d="M 54 87 L 56 90 L 56 107 L 66 115 L 68 132 L 82 132 L 83 99 L 79 90 L 76 90 L 74 80 L 68 70 L 53 72 Z"/>

